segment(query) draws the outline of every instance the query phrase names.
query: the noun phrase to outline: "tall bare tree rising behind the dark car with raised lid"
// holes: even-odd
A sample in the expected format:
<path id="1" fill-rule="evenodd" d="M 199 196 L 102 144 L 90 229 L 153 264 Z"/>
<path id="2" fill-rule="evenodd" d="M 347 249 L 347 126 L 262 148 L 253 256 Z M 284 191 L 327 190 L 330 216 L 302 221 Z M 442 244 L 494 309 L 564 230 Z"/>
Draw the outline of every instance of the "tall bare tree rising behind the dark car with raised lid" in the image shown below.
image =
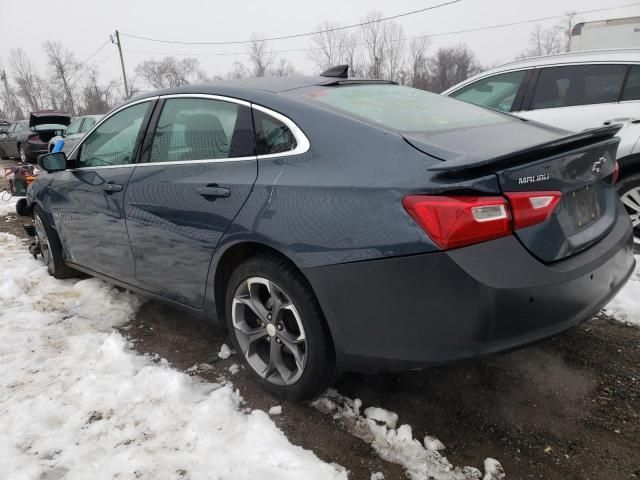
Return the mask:
<path id="1" fill-rule="evenodd" d="M 71 50 L 64 48 L 60 42 L 45 42 L 44 52 L 50 68 L 50 81 L 63 93 L 62 108 L 71 115 L 76 114 L 76 82 L 81 65 L 76 61 Z"/>

